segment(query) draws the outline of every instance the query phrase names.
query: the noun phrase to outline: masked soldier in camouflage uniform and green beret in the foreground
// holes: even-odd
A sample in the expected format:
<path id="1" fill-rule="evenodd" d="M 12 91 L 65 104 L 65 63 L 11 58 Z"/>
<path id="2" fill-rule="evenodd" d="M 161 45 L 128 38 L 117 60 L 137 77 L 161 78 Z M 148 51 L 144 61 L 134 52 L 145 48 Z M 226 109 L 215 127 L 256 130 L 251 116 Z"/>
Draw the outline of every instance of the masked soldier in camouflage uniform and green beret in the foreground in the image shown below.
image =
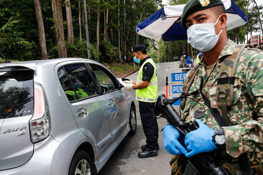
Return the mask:
<path id="1" fill-rule="evenodd" d="M 225 8 L 220 0 L 190 0 L 186 3 L 181 17 L 183 28 L 188 28 L 188 43 L 203 53 L 203 59 L 186 75 L 183 93 L 200 89 L 210 101 L 211 108 L 219 111 L 221 116 L 224 111 L 221 110 L 219 95 L 217 95 L 220 68 L 226 66 L 223 65 L 225 64 L 223 60 L 227 56 L 235 58 L 240 49 L 239 45 L 227 39 L 226 19 Z M 202 31 L 200 28 L 205 30 L 211 27 L 209 23 L 214 27 L 213 40 L 207 40 L 208 37 L 202 35 L 205 32 L 200 32 Z M 190 27 L 195 30 L 189 30 Z M 198 32 L 202 33 L 199 39 L 203 38 L 204 44 L 194 41 L 194 36 L 198 36 Z M 229 61 L 228 64 L 232 65 L 232 60 Z M 228 169 L 228 173 L 242 174 L 240 172 L 242 168 L 239 164 L 235 164 L 235 158 L 246 153 L 249 165 L 256 174 L 260 174 L 258 165 L 262 163 L 263 157 L 263 53 L 259 49 L 243 49 L 234 70 L 233 97 L 231 97 L 233 105 L 230 105 L 226 111 L 229 126 L 220 127 L 202 95 L 196 94 L 181 101 L 182 119 L 185 122 L 197 120 L 199 123 L 199 128 L 189 132 L 185 137 L 187 150 L 182 148 L 180 143 L 178 144 L 177 139 L 174 139 L 178 138 L 178 131 L 171 125 L 164 127 L 164 147 L 169 153 L 176 155 L 170 162 L 172 174 L 184 172 L 180 170 L 182 167 L 178 163 L 182 162 L 178 157 L 184 156 L 178 155 L 191 157 L 198 153 L 217 150 L 220 145 L 211 138 L 214 138 L 216 130 L 220 129 L 224 133 L 222 150 L 227 153 L 226 157 L 230 157 L 229 162 L 223 164 L 223 167 Z M 231 73 L 232 69 L 228 71 Z M 193 81 L 190 83 L 191 78 Z M 226 92 L 227 96 L 229 94 L 230 90 Z M 229 105 L 228 100 L 226 105 Z"/>

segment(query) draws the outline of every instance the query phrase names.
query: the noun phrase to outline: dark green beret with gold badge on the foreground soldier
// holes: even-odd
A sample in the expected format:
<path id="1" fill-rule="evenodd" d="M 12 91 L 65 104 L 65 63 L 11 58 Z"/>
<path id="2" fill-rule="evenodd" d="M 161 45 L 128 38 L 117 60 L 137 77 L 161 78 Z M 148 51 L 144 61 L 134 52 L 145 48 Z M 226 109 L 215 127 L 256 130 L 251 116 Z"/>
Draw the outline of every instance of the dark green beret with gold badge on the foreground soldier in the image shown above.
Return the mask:
<path id="1" fill-rule="evenodd" d="M 188 1 L 183 9 L 183 14 L 181 17 L 181 24 L 183 28 L 187 28 L 185 25 L 186 18 L 198 11 L 208 9 L 215 6 L 224 5 L 221 0 L 190 0 Z"/>

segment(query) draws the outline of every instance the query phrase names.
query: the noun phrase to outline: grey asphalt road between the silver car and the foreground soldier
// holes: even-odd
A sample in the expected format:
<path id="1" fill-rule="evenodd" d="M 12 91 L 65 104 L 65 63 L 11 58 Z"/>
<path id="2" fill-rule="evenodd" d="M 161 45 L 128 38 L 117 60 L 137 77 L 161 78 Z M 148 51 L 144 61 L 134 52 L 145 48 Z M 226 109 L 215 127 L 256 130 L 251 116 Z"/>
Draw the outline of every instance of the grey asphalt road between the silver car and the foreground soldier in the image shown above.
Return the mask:
<path id="1" fill-rule="evenodd" d="M 165 94 L 166 75 L 165 69 L 179 68 L 180 61 L 169 63 L 158 63 L 157 77 L 158 77 L 158 96 Z M 175 70 L 172 73 L 181 72 Z M 136 80 L 138 72 L 128 76 L 130 80 Z M 130 91 L 130 94 L 135 97 L 135 90 Z M 157 119 L 159 127 L 159 146 L 158 156 L 139 158 L 138 152 L 141 151 L 141 145 L 145 144 L 146 137 L 141 126 L 139 103 L 135 100 L 136 116 L 137 116 L 137 131 L 133 136 L 127 136 L 119 147 L 114 151 L 108 162 L 100 170 L 98 175 L 157 175 L 157 174 L 171 174 L 171 167 L 169 161 L 172 157 L 163 146 L 163 133 L 160 131 L 167 121 L 164 118 Z M 176 111 L 179 111 L 179 106 L 174 106 Z"/>

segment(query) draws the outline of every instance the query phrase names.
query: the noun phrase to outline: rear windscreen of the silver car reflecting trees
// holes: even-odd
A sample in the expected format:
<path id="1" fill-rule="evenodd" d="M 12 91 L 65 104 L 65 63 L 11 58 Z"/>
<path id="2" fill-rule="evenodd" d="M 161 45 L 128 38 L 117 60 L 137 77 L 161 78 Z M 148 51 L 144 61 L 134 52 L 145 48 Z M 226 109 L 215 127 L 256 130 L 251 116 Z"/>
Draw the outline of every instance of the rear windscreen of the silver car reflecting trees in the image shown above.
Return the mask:
<path id="1" fill-rule="evenodd" d="M 0 119 L 33 114 L 33 70 L 0 72 Z"/>

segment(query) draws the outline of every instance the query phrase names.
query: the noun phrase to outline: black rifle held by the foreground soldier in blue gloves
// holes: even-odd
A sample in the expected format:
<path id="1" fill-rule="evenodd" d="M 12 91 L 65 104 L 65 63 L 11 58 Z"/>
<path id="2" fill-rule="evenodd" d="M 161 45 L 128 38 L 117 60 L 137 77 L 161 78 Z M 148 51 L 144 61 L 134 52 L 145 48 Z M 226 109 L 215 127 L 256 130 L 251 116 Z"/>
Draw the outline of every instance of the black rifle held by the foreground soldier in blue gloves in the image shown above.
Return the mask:
<path id="1" fill-rule="evenodd" d="M 178 97 L 174 100 L 166 99 L 165 95 L 162 94 L 158 97 L 155 104 L 155 117 L 165 118 L 169 124 L 173 125 L 176 130 L 180 133 L 179 141 L 186 148 L 184 144 L 184 138 L 188 132 L 196 130 L 199 126 L 196 121 L 185 123 L 178 113 L 174 110 L 173 102 L 189 95 L 197 94 L 198 91 L 186 94 Z M 160 117 L 157 117 L 160 116 Z M 216 161 L 217 154 L 215 151 L 200 153 L 195 156 L 188 158 L 189 164 L 195 169 L 198 174 L 210 174 L 210 175 L 229 175 L 225 169 L 218 164 Z"/>

